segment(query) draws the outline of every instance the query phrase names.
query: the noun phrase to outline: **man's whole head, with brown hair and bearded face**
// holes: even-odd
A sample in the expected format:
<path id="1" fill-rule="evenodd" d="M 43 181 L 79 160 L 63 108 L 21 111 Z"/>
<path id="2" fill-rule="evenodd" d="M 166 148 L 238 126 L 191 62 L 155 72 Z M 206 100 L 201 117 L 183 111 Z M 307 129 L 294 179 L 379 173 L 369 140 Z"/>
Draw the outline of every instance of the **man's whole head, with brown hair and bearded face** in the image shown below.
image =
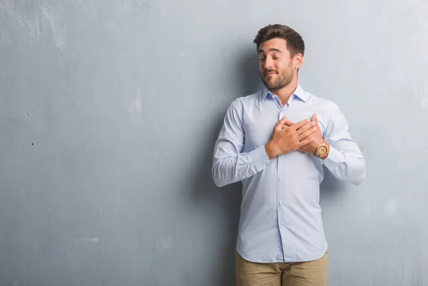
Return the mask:
<path id="1" fill-rule="evenodd" d="M 285 25 L 268 25 L 258 31 L 254 43 L 260 76 L 267 88 L 275 91 L 297 78 L 305 54 L 305 42 L 300 34 Z"/>

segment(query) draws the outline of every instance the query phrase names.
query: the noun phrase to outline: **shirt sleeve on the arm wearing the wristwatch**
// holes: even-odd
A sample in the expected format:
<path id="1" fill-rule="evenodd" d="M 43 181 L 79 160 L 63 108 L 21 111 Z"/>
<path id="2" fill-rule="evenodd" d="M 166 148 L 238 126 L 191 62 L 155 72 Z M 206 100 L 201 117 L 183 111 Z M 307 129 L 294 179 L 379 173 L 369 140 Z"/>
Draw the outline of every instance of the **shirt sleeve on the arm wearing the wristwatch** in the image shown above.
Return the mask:
<path id="1" fill-rule="evenodd" d="M 360 185 L 366 176 L 365 158 L 348 131 L 348 123 L 338 106 L 333 103 L 324 139 L 330 152 L 322 163 L 335 176 L 347 183 Z"/>

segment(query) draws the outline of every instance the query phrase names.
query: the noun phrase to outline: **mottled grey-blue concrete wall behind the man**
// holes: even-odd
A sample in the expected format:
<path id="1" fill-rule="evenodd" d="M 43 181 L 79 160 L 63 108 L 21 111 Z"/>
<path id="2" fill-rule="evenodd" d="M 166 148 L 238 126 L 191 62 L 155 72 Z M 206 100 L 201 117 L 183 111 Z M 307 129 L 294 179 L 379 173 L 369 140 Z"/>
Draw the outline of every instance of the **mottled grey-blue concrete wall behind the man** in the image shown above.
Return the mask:
<path id="1" fill-rule="evenodd" d="M 0 285 L 234 285 L 213 144 L 271 23 L 367 159 L 322 183 L 329 285 L 428 285 L 423 0 L 0 0 Z"/>

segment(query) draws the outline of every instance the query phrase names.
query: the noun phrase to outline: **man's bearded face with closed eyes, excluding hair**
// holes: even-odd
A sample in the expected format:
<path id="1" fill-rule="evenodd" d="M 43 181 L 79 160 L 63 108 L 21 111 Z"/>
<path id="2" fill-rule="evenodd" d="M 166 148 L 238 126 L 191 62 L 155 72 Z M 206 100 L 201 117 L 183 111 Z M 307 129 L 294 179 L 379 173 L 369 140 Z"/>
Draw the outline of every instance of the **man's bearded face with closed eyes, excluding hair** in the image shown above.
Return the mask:
<path id="1" fill-rule="evenodd" d="M 290 56 L 284 39 L 271 39 L 259 46 L 259 71 L 265 86 L 270 91 L 287 86 L 295 76 L 296 61 Z"/>

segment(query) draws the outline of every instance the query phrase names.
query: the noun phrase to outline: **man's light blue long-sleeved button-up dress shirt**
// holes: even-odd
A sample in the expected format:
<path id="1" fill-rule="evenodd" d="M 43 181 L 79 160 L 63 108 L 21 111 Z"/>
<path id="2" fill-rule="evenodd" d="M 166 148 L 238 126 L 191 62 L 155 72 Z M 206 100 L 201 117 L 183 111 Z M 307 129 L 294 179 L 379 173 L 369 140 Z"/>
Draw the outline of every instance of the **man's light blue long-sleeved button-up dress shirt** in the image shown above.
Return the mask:
<path id="1" fill-rule="evenodd" d="M 321 160 L 295 151 L 269 159 L 265 144 L 277 121 L 297 123 L 317 113 L 330 153 Z M 285 106 L 267 88 L 235 99 L 215 142 L 212 175 L 222 187 L 241 181 L 237 252 L 252 262 L 316 260 L 327 250 L 320 208 L 325 165 L 335 178 L 359 185 L 365 158 L 348 132 L 340 108 L 300 85 Z"/>

